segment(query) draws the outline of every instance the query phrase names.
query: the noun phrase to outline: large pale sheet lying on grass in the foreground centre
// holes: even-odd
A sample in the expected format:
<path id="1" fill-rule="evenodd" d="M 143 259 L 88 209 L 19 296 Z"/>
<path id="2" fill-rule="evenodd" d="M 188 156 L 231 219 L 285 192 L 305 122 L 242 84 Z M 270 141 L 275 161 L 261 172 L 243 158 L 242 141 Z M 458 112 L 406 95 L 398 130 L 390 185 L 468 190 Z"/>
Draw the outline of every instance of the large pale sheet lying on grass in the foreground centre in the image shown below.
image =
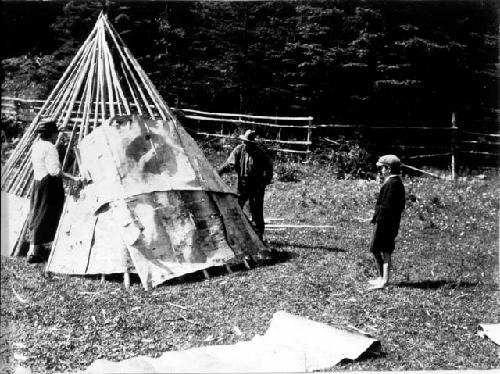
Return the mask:
<path id="1" fill-rule="evenodd" d="M 255 373 L 325 370 L 343 359 L 354 360 L 378 340 L 279 311 L 265 335 L 234 345 L 165 352 L 121 362 L 100 359 L 91 373 Z"/>

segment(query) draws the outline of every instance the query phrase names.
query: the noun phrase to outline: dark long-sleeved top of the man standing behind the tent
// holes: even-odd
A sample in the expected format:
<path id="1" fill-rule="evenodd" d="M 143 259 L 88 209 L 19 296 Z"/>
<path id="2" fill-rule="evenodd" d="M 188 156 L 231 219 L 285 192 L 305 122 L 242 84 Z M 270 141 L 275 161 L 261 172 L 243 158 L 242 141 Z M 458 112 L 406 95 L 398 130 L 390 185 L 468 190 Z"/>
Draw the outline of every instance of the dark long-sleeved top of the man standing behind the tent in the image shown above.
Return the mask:
<path id="1" fill-rule="evenodd" d="M 226 162 L 218 169 L 223 174 L 234 169 L 239 180 L 259 185 L 269 184 L 273 178 L 273 161 L 261 146 L 240 144 L 233 149 Z"/>

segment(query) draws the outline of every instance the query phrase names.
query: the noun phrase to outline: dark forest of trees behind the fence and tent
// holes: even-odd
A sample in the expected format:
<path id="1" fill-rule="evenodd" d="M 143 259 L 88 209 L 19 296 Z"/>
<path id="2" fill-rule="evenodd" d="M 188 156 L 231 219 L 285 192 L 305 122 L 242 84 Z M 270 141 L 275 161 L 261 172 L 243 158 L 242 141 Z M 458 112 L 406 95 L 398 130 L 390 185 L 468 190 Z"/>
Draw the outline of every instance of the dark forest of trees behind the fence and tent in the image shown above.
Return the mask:
<path id="1" fill-rule="evenodd" d="M 3 95 L 44 99 L 102 9 L 171 106 L 498 132 L 493 1 L 3 1 Z"/>

